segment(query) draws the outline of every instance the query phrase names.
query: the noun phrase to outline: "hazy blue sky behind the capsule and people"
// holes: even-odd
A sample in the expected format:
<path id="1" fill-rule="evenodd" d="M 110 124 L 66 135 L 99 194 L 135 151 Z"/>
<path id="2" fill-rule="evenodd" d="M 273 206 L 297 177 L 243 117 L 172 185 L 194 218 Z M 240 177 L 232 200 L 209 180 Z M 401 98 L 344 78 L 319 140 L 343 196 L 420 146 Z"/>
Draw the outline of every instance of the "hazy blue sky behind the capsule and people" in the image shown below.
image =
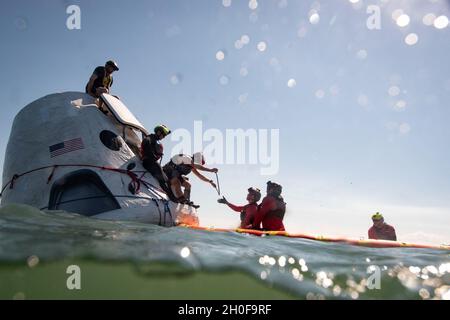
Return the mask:
<path id="1" fill-rule="evenodd" d="M 284 186 L 289 231 L 367 236 L 381 211 L 401 240 L 450 243 L 450 28 L 424 19 L 448 17 L 449 2 L 353 2 L 1 1 L 0 150 L 21 108 L 83 91 L 113 58 L 113 92 L 147 128 L 193 131 L 201 120 L 223 132 L 280 130 L 277 175 L 217 165 L 230 201 L 273 180 Z M 71 4 L 81 30 L 66 28 Z M 380 6 L 380 30 L 366 27 L 367 5 Z M 248 44 L 236 43 L 244 35 Z M 192 182 L 203 225 L 238 224 L 214 189 Z"/>

